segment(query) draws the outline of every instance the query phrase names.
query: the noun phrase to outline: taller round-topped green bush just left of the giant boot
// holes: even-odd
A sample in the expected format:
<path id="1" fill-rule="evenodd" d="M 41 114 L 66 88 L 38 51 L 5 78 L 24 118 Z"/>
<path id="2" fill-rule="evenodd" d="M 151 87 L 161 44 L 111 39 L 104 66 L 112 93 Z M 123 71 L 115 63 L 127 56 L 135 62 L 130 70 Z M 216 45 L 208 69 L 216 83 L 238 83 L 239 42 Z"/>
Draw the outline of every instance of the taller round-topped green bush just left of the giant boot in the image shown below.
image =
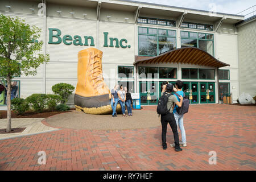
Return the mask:
<path id="1" fill-rule="evenodd" d="M 59 94 L 61 97 L 61 104 L 66 104 L 68 97 L 72 94 L 75 87 L 71 84 L 59 83 L 52 86 L 52 92 Z"/>

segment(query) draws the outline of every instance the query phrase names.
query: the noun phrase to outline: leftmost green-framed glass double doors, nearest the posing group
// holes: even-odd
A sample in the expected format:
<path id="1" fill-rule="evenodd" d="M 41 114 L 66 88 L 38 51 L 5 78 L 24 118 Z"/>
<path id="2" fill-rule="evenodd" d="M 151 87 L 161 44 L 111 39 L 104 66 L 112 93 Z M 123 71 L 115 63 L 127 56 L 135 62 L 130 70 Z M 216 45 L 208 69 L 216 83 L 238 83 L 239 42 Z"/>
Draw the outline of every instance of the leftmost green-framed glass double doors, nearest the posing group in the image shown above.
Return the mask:
<path id="1" fill-rule="evenodd" d="M 158 104 L 158 82 L 140 81 L 139 92 L 141 94 L 141 105 Z"/>

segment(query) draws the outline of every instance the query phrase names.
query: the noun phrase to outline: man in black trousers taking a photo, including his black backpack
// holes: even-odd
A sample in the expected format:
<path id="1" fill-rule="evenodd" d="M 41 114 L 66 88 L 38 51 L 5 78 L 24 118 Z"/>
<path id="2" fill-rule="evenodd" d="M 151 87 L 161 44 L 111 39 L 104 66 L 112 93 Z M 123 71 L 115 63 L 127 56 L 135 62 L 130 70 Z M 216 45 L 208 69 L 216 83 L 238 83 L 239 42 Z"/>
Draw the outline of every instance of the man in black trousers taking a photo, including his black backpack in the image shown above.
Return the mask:
<path id="1" fill-rule="evenodd" d="M 167 133 L 167 124 L 171 126 L 172 132 L 174 133 L 174 143 L 175 143 L 175 151 L 182 151 L 179 144 L 179 134 L 177 133 L 177 125 L 174 118 L 174 113 L 172 113 L 174 109 L 174 105 L 181 107 L 183 97 L 180 96 L 180 101 L 177 100 L 176 96 L 172 94 L 174 86 L 172 84 L 163 85 L 163 90 L 161 93 L 161 97 L 158 101 L 157 112 L 161 114 L 161 124 L 162 124 L 162 145 L 163 150 L 167 149 L 166 144 L 166 133 Z"/>

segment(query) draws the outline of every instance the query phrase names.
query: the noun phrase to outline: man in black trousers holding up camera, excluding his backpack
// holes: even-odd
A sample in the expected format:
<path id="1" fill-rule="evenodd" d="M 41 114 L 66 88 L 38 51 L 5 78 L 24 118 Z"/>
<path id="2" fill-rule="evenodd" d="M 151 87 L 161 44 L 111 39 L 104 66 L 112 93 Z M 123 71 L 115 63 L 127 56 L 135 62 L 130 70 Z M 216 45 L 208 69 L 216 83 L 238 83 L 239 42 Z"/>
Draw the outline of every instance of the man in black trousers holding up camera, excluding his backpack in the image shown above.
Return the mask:
<path id="1" fill-rule="evenodd" d="M 173 89 L 174 89 L 174 86 L 172 84 L 163 85 L 161 96 L 163 96 L 163 94 L 171 94 Z M 180 102 L 179 102 L 177 98 L 172 94 L 171 96 L 168 97 L 168 102 L 167 102 L 167 109 L 169 110 L 168 114 L 161 115 L 163 150 L 167 149 L 166 133 L 167 133 L 167 125 L 169 123 L 172 129 L 172 133 L 174 133 L 175 151 L 182 151 L 179 144 L 179 134 L 177 133 L 177 125 L 174 118 L 174 113 L 172 113 L 172 111 L 174 110 L 174 105 L 176 104 L 177 106 L 181 107 L 182 101 L 183 101 L 182 96 L 180 96 Z"/>

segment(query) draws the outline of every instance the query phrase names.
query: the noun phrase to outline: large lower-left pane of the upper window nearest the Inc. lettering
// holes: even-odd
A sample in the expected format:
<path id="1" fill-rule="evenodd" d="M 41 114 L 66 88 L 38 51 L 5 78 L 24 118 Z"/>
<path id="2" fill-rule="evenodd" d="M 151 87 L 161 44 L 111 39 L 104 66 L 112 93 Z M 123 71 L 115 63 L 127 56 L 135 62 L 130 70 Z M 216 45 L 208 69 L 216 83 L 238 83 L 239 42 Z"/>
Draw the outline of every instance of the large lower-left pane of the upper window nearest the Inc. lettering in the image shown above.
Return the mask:
<path id="1" fill-rule="evenodd" d="M 139 35 L 139 55 L 157 55 L 157 36 Z"/>

